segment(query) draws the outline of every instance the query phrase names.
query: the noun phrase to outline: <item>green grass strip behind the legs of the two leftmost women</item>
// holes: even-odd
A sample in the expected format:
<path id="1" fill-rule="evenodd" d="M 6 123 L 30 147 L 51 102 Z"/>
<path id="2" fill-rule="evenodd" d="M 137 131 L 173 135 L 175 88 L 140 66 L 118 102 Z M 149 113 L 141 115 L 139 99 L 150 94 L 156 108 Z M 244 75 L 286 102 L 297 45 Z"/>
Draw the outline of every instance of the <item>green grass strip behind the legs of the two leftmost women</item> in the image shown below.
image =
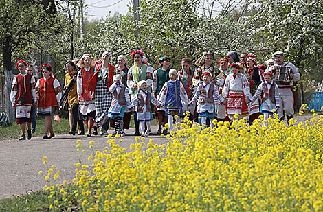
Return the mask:
<path id="1" fill-rule="evenodd" d="M 45 118 L 37 117 L 36 132 L 33 136 L 41 136 L 44 134 Z M 67 134 L 69 132 L 69 120 L 61 118 L 60 122 L 54 121 L 53 130 L 55 134 Z M 27 134 L 27 132 L 26 132 Z M 15 121 L 10 121 L 8 126 L 0 126 L 0 140 L 2 139 L 17 139 L 21 136 L 20 125 Z"/>

